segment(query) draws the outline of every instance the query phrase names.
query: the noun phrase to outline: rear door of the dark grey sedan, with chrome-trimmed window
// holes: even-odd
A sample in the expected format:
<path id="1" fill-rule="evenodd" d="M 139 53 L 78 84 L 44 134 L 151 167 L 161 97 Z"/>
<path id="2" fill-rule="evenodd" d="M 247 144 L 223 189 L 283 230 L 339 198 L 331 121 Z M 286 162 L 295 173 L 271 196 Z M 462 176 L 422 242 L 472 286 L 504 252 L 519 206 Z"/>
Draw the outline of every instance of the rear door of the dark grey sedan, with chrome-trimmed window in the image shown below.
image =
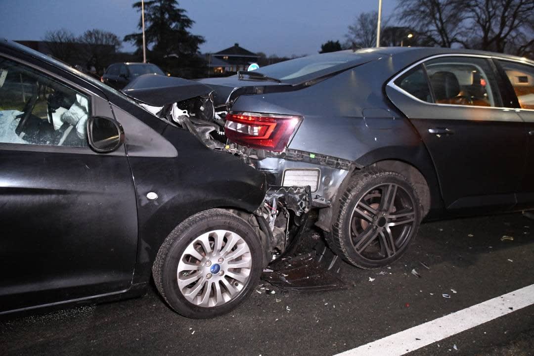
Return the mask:
<path id="1" fill-rule="evenodd" d="M 488 58 L 436 56 L 388 83 L 434 161 L 450 210 L 505 211 L 515 205 L 526 138 L 524 123 L 503 108 Z"/>

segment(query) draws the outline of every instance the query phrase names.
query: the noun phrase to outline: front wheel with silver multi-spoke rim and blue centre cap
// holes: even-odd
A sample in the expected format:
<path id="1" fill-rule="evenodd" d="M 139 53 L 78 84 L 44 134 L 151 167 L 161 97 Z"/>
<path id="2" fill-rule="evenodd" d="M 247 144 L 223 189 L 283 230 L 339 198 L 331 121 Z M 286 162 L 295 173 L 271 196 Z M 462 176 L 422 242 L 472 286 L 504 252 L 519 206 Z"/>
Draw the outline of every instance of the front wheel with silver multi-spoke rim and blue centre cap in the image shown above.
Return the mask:
<path id="1" fill-rule="evenodd" d="M 233 310 L 257 286 L 261 251 L 244 219 L 211 209 L 184 220 L 167 236 L 152 273 L 174 311 L 187 318 L 213 318 Z"/>

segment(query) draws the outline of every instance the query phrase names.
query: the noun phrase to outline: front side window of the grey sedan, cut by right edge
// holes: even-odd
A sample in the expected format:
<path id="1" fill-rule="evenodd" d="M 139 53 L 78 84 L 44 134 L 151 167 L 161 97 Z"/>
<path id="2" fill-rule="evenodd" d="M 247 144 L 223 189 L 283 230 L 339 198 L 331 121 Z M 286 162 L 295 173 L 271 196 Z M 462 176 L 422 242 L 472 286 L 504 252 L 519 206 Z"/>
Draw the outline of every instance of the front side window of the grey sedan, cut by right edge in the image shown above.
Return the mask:
<path id="1" fill-rule="evenodd" d="M 499 60 L 522 109 L 534 110 L 534 67 Z"/>

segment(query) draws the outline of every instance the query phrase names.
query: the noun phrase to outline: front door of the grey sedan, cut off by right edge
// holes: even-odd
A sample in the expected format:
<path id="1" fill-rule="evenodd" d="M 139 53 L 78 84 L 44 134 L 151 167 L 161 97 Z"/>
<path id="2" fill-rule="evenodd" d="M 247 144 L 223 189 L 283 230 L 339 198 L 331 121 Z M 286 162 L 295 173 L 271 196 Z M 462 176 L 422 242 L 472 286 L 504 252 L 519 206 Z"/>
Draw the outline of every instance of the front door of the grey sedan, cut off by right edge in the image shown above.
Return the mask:
<path id="1" fill-rule="evenodd" d="M 525 122 L 527 158 L 525 171 L 517 192 L 517 209 L 534 208 L 534 65 L 527 61 L 497 60 L 513 96 L 515 112 Z M 508 84 L 507 83 L 507 84 Z"/>

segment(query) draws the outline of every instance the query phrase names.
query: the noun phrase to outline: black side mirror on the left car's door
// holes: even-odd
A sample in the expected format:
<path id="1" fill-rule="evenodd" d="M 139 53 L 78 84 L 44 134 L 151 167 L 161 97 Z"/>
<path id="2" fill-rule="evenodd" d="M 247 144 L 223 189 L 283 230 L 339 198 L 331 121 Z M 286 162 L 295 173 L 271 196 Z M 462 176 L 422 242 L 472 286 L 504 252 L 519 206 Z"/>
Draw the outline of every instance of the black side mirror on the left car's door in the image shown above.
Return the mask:
<path id="1" fill-rule="evenodd" d="M 113 152 L 124 143 L 124 130 L 120 123 L 108 117 L 91 116 L 87 121 L 89 146 L 96 152 Z"/>

